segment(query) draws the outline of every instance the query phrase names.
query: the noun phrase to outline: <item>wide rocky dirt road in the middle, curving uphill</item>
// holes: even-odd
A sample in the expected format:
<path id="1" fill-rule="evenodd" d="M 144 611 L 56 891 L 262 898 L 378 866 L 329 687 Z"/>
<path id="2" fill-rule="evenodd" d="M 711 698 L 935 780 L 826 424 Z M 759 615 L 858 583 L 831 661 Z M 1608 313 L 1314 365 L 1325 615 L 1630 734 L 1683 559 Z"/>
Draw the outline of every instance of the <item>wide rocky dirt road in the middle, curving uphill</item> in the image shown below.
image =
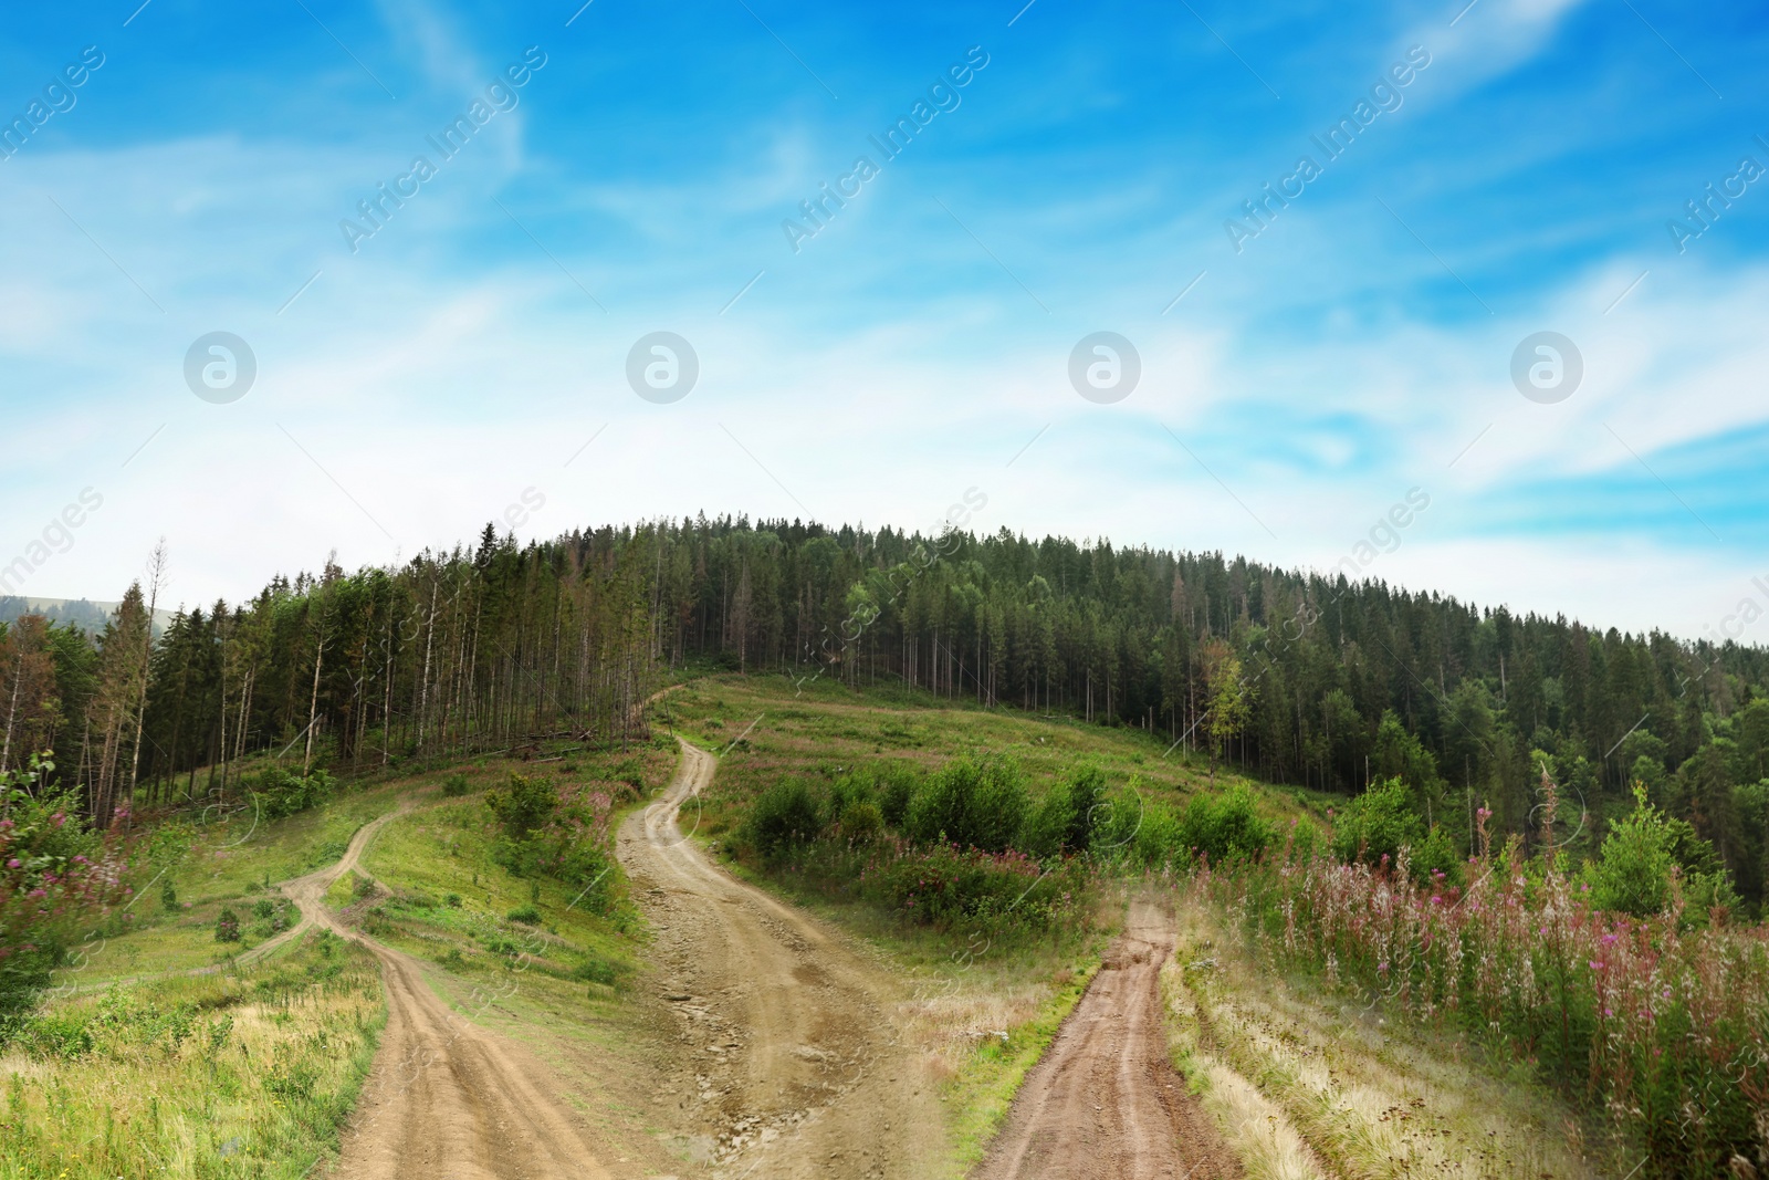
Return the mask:
<path id="1" fill-rule="evenodd" d="M 681 1037 L 662 1100 L 699 1130 L 701 1159 L 732 1178 L 936 1175 L 938 1097 L 897 1040 L 890 973 L 685 839 L 715 764 L 683 743 L 669 791 L 619 833 Z"/>

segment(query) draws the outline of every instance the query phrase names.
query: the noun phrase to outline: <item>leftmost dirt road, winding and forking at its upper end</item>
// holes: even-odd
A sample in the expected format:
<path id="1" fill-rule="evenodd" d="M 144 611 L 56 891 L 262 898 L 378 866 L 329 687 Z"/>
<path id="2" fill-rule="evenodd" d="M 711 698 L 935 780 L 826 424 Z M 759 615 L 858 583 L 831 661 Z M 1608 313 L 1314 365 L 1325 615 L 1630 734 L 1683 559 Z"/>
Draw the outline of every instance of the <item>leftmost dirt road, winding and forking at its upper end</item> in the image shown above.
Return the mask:
<path id="1" fill-rule="evenodd" d="M 325 909 L 325 890 L 356 867 L 398 810 L 364 824 L 338 863 L 295 877 L 283 892 L 301 908 L 301 922 L 345 938 Z M 478 1028 L 430 991 L 417 961 L 361 938 L 387 987 L 387 1028 L 375 1069 L 343 1139 L 336 1175 L 348 1180 L 607 1180 L 582 1130 L 582 1116 L 550 1084 L 552 1072 L 525 1051 Z M 267 954 L 271 943 L 255 948 Z"/>

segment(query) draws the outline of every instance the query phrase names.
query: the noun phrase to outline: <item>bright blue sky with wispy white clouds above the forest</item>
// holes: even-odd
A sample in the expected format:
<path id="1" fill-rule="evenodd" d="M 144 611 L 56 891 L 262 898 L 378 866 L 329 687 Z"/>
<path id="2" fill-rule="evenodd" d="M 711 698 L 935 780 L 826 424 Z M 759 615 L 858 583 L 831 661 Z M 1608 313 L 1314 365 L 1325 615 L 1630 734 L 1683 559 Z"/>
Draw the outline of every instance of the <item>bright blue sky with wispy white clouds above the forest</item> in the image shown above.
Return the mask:
<path id="1" fill-rule="evenodd" d="M 5 591 L 959 518 L 1769 642 L 1762 12 L 580 4 L 5 16 Z"/>

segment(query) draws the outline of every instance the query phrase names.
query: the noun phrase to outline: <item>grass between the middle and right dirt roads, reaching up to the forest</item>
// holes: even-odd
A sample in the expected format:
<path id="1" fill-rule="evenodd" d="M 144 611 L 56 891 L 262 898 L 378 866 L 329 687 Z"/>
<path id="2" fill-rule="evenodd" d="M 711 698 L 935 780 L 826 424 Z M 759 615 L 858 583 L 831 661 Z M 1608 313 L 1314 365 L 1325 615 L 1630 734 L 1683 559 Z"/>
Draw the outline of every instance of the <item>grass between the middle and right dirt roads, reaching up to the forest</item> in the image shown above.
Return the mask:
<path id="1" fill-rule="evenodd" d="M 1208 784 L 1201 761 L 1168 741 L 1130 729 L 1104 729 L 1068 718 L 980 709 L 902 688 L 854 693 L 814 683 L 794 695 L 778 676 L 713 676 L 670 693 L 676 732 L 720 752 L 718 773 L 699 805 L 683 808 L 681 826 L 716 853 L 770 784 L 801 775 L 833 778 L 856 762 L 904 759 L 918 768 L 976 750 L 1012 750 L 1042 791 L 1081 761 L 1095 761 L 1123 798 L 1183 801 Z M 653 706 L 653 724 L 663 716 Z M 757 722 L 757 718 L 761 718 Z M 752 722 L 755 722 L 752 725 Z M 739 739 L 741 738 L 741 739 Z M 1238 782 L 1217 771 L 1217 789 Z M 1325 796 L 1256 784 L 1272 817 L 1323 814 Z M 900 1012 L 909 1044 L 939 1088 L 948 1139 L 948 1173 L 962 1175 L 989 1146 L 1026 1072 L 1049 1047 L 1099 968 L 1122 915 L 1102 900 L 1083 929 L 1058 936 L 984 943 L 902 922 L 854 900 L 831 899 L 791 874 L 762 874 L 727 863 L 738 876 L 840 925 L 909 980 Z"/>

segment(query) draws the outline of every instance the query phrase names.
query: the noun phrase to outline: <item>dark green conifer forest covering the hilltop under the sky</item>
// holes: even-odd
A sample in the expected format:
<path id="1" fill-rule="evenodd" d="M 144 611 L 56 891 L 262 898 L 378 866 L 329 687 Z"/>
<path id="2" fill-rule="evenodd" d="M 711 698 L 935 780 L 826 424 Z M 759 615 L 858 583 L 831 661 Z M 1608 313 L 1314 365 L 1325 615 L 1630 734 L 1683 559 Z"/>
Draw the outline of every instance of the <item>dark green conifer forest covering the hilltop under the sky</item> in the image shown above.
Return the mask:
<path id="1" fill-rule="evenodd" d="M 670 669 L 902 681 L 980 708 L 1130 725 L 1272 782 L 1399 778 L 1474 851 L 1475 812 L 1596 847 L 1633 785 L 1755 913 L 1769 854 L 1764 651 L 1514 616 L 1222 554 L 745 517 L 476 545 L 271 579 L 186 605 L 157 575 L 99 632 L 21 616 L 0 639 L 0 770 L 53 752 L 94 816 L 308 773 L 621 739 Z"/>

